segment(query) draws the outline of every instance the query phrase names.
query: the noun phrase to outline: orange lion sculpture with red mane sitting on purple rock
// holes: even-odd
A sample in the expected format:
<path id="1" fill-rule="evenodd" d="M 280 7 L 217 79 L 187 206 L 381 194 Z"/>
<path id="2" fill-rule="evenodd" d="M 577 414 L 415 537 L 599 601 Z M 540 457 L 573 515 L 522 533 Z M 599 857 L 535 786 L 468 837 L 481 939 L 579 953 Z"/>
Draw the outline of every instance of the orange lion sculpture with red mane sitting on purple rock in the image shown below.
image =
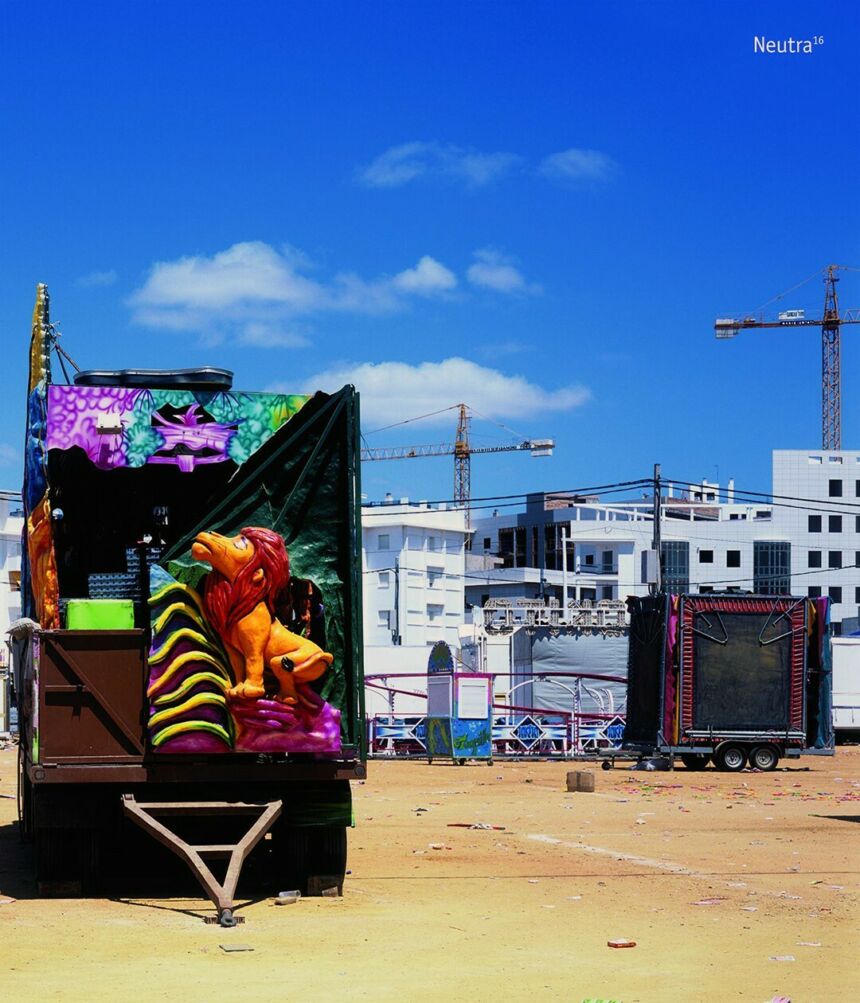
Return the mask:
<path id="1" fill-rule="evenodd" d="M 268 666 L 278 680 L 278 700 L 307 703 L 296 684 L 319 679 L 333 657 L 309 638 L 287 630 L 275 615 L 278 596 L 290 583 L 284 541 L 259 527 L 248 527 L 238 537 L 200 533 L 191 553 L 196 561 L 212 566 L 203 602 L 236 677 L 228 696 L 265 696 L 263 673 Z"/>

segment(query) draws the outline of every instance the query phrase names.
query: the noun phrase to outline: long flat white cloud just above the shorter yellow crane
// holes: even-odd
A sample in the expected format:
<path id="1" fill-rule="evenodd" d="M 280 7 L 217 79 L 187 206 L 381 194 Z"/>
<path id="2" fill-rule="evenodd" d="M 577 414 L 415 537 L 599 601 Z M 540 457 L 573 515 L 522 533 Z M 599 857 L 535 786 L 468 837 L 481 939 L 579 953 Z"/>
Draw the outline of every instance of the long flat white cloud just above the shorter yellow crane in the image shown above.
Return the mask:
<path id="1" fill-rule="evenodd" d="M 442 362 L 346 363 L 309 377 L 304 392 L 333 391 L 353 383 L 361 394 L 365 427 L 389 424 L 416 414 L 437 411 L 466 401 L 488 418 L 510 420 L 535 414 L 569 411 L 590 399 L 587 387 L 571 385 L 548 390 L 525 376 L 509 376 L 469 359 Z M 283 387 L 271 387 L 283 390 Z M 295 388 L 291 388 L 295 392 Z M 431 423 L 450 424 L 451 415 L 438 415 Z"/>

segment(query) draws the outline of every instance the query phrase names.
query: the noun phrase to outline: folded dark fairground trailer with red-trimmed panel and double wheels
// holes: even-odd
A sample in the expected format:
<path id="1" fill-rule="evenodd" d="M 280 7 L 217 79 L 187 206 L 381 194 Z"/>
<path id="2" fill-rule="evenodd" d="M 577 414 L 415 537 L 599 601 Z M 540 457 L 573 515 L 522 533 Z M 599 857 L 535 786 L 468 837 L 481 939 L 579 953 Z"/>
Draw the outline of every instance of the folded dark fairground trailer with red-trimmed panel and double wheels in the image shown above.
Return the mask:
<path id="1" fill-rule="evenodd" d="M 732 772 L 832 754 L 830 600 L 662 594 L 628 605 L 626 750 Z"/>

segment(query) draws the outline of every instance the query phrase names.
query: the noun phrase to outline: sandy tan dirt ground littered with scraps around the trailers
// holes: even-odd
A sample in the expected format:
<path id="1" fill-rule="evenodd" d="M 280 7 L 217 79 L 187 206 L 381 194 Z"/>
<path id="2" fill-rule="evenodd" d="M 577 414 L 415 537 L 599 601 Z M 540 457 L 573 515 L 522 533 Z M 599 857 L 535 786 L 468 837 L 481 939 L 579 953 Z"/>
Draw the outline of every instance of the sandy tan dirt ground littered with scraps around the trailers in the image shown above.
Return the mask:
<path id="1" fill-rule="evenodd" d="M 380 762 L 342 899 L 39 900 L 0 753 L 0 989 L 42 1000 L 860 999 L 860 749 L 774 773 Z M 500 828 L 467 828 L 454 823 Z M 607 941 L 627 938 L 634 948 Z M 226 953 L 222 945 L 253 950 Z"/>

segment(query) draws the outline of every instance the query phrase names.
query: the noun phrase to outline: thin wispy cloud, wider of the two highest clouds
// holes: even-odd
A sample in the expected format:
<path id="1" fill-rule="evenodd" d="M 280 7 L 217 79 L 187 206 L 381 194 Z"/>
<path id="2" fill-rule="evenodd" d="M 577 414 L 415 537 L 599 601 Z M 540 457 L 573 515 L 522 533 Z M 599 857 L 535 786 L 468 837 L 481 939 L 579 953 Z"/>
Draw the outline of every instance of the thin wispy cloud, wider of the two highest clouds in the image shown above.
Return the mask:
<path id="1" fill-rule="evenodd" d="M 472 188 L 489 185 L 522 160 L 516 153 L 482 153 L 452 143 L 404 142 L 358 171 L 368 188 L 398 188 L 418 179 L 447 178 Z"/>

